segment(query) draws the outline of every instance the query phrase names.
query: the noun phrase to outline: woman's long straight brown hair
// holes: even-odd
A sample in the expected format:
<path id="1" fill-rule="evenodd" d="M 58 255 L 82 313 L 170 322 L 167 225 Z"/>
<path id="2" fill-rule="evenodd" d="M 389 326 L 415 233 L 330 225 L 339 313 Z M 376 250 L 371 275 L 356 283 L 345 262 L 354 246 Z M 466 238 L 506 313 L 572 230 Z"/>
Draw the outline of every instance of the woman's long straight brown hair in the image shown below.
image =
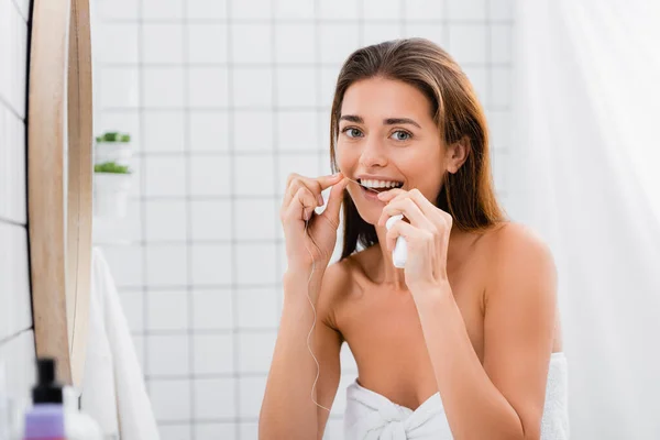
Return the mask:
<path id="1" fill-rule="evenodd" d="M 464 231 L 482 232 L 504 221 L 504 210 L 495 197 L 488 133 L 484 110 L 472 84 L 457 62 L 426 38 L 388 41 L 353 52 L 337 80 L 330 116 L 330 163 L 338 172 L 334 147 L 339 118 L 346 89 L 355 81 L 383 77 L 419 89 L 431 102 L 431 116 L 447 145 L 469 139 L 469 155 L 455 174 L 448 173 L 436 206 L 449 212 L 453 224 Z M 344 234 L 341 258 L 361 243 L 378 242 L 373 224 L 365 222 L 348 191 L 343 195 Z"/>

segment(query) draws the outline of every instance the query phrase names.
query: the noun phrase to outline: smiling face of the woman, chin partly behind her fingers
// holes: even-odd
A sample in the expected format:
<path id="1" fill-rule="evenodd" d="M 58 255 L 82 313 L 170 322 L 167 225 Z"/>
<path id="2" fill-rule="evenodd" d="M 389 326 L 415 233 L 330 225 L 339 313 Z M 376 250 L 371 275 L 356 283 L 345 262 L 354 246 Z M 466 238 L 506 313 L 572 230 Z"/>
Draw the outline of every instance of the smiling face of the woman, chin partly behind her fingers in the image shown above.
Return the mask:
<path id="1" fill-rule="evenodd" d="M 336 154 L 348 177 L 369 186 L 418 188 L 432 202 L 446 172 L 446 147 L 430 101 L 417 88 L 392 79 L 364 79 L 346 89 Z M 385 205 L 376 194 L 354 182 L 346 190 L 360 216 L 376 223 Z"/>

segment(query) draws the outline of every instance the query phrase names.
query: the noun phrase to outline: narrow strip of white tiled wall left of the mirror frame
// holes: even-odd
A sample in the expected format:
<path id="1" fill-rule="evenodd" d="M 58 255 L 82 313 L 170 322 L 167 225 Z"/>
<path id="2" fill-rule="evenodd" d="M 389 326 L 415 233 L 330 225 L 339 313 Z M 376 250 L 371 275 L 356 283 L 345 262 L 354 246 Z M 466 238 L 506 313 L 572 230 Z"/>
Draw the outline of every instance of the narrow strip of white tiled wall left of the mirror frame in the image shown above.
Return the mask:
<path id="1" fill-rule="evenodd" d="M 23 399 L 34 382 L 25 202 L 29 9 L 29 0 L 0 0 L 0 375 L 4 369 L 10 396 Z"/>

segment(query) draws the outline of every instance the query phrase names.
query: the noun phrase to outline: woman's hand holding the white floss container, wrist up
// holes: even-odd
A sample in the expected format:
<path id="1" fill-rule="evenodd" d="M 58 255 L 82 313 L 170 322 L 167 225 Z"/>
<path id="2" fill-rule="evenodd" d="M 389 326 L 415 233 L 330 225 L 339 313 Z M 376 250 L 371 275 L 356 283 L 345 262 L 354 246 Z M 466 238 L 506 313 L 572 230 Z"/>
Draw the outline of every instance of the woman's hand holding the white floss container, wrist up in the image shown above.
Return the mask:
<path id="1" fill-rule="evenodd" d="M 397 221 L 387 231 L 387 250 L 392 252 L 396 239 L 406 240 L 408 255 L 405 266 L 406 285 L 411 293 L 417 289 L 447 283 L 447 250 L 453 219 L 431 204 L 419 189 L 409 191 L 391 189 L 378 195 L 387 205 L 378 219 L 385 226 L 392 216 L 403 213 L 410 223 Z"/>

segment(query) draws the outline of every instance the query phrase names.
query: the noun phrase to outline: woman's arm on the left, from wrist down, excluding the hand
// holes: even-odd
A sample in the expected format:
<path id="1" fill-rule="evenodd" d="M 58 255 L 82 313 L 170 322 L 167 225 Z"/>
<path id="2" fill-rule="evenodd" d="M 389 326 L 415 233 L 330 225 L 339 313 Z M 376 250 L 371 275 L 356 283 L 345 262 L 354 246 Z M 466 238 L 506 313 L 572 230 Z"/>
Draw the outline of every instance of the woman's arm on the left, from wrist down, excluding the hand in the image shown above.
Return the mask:
<path id="1" fill-rule="evenodd" d="M 309 296 L 316 301 L 317 321 L 310 345 L 319 362 L 315 399 L 331 408 L 340 380 L 341 334 L 328 324 L 333 294 L 340 287 L 341 263 L 316 273 Z M 310 267 L 311 271 L 311 267 Z M 309 353 L 307 336 L 314 323 L 308 294 L 310 271 L 287 272 L 284 305 L 273 362 L 258 420 L 260 440 L 321 439 L 329 413 L 315 404 L 311 388 L 317 364 Z"/>

